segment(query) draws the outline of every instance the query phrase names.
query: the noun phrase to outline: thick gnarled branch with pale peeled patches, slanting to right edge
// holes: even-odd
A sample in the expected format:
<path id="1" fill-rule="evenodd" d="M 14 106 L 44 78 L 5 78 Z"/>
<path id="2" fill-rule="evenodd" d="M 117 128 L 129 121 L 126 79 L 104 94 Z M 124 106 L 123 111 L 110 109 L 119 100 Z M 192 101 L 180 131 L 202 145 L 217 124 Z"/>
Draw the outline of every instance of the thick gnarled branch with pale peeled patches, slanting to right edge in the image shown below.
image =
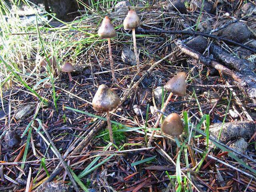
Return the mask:
<path id="1" fill-rule="evenodd" d="M 200 60 L 202 63 L 204 63 L 206 66 L 212 66 L 218 71 L 220 71 L 222 74 L 230 76 L 232 79 L 234 79 L 237 86 L 240 88 L 240 90 L 243 90 L 246 92 L 250 99 L 253 100 L 253 102 L 256 102 L 256 78 L 252 76 L 244 76 L 238 72 L 234 72 L 219 62 L 216 62 L 212 60 L 211 58 L 208 58 L 195 50 L 192 50 L 188 48 L 186 45 L 182 44 L 180 40 L 177 40 L 175 44 L 180 48 L 180 50 L 198 60 Z"/>

